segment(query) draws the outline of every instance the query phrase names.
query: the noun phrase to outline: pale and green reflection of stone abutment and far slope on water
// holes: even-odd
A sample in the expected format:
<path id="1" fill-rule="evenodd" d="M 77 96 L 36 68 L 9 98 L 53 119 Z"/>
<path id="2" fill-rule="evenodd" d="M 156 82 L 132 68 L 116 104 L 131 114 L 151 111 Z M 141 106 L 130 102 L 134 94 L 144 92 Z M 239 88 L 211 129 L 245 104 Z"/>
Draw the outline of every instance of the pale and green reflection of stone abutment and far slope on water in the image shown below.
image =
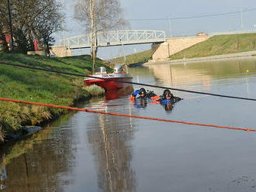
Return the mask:
<path id="1" fill-rule="evenodd" d="M 256 73 L 256 60 L 225 60 L 200 63 L 156 64 L 148 66 L 155 80 L 170 87 L 202 85 L 205 90 L 211 87 L 214 79 L 240 77 Z"/>

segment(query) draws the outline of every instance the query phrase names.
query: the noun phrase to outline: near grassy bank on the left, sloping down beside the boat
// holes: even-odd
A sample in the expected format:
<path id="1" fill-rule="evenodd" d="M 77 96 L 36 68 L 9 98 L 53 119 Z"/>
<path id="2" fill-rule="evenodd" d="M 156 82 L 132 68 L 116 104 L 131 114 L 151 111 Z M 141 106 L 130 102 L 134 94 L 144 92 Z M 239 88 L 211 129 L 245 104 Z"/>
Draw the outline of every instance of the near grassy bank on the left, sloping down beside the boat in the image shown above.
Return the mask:
<path id="1" fill-rule="evenodd" d="M 92 71 L 92 60 L 89 56 L 49 58 L 0 53 L 0 61 L 74 74 L 89 74 Z M 96 66 L 102 66 L 102 63 L 101 60 L 97 60 Z M 74 101 L 91 96 L 92 94 L 83 86 L 82 77 L 10 67 L 0 63 L 1 98 L 71 106 L 74 105 Z M 0 139 L 21 129 L 22 125 L 38 125 L 64 112 L 61 109 L 0 101 Z"/>

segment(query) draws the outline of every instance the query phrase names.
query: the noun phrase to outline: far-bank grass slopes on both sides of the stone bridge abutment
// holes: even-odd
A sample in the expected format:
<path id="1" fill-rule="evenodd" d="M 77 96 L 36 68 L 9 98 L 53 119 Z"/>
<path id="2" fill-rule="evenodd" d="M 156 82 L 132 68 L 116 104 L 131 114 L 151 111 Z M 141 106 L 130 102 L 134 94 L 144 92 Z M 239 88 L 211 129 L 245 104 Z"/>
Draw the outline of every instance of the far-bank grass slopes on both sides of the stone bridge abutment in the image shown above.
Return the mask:
<path id="1" fill-rule="evenodd" d="M 256 50 L 256 33 L 213 36 L 205 42 L 195 44 L 189 48 L 175 53 L 170 58 L 182 59 L 194 57 L 208 57 L 229 53 L 240 53 Z M 126 63 L 144 63 L 152 57 L 152 51 L 146 50 L 126 56 Z M 123 57 L 112 60 L 113 63 L 123 63 Z"/>

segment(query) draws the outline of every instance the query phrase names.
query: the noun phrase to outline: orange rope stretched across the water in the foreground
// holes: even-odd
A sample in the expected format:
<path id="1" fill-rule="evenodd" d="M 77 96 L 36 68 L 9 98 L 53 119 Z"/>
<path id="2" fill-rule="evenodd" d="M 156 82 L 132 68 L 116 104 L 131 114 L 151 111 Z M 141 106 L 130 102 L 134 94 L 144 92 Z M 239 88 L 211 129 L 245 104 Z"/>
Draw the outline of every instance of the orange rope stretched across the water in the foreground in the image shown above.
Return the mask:
<path id="1" fill-rule="evenodd" d="M 219 128 L 219 129 L 234 129 L 234 130 L 247 131 L 247 132 L 256 132 L 256 129 L 229 127 L 229 126 L 221 126 L 221 125 L 208 125 L 208 124 L 202 124 L 202 123 L 196 123 L 196 122 L 175 121 L 175 120 L 164 119 L 164 118 L 150 118 L 150 117 L 137 116 L 137 115 L 112 113 L 112 112 L 106 112 L 106 111 L 95 111 L 95 110 L 91 110 L 88 108 L 72 108 L 72 107 L 66 107 L 66 106 L 61 106 L 61 105 L 37 103 L 37 102 L 32 102 L 32 101 L 21 101 L 21 100 L 10 99 L 10 98 L 0 98 L 0 101 L 9 101 L 9 102 L 22 103 L 22 104 L 28 104 L 28 105 L 39 105 L 39 106 L 44 106 L 44 107 L 49 107 L 49 108 L 62 108 L 62 109 L 73 110 L 73 111 L 85 111 L 85 112 L 89 112 L 89 113 L 99 113 L 99 114 L 115 115 L 115 116 L 129 117 L 129 118 L 143 118 L 143 119 L 154 120 L 154 121 L 159 121 L 159 122 L 174 122 L 174 123 L 181 123 L 181 124 L 186 124 L 186 125 L 199 125 L 199 126 L 213 127 L 213 128 Z"/>

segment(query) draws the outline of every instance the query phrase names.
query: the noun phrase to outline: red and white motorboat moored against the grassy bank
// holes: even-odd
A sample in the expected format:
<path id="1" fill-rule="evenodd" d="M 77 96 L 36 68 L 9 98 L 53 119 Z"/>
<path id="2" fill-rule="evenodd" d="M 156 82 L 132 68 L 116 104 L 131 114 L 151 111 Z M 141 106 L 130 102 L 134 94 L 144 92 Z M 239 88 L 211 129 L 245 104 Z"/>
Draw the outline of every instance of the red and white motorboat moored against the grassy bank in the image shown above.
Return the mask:
<path id="1" fill-rule="evenodd" d="M 92 77 L 85 77 L 85 85 L 90 86 L 92 84 L 96 84 L 105 90 L 115 90 L 123 87 L 129 86 L 129 84 L 123 82 L 116 82 L 116 81 L 127 81 L 130 82 L 133 78 L 130 74 L 125 74 L 123 71 L 123 67 L 120 64 L 116 64 L 114 67 L 114 73 L 107 74 L 105 67 L 99 67 L 96 70 Z M 94 78 L 99 77 L 99 78 Z M 111 81 L 116 80 L 116 81 Z"/>

